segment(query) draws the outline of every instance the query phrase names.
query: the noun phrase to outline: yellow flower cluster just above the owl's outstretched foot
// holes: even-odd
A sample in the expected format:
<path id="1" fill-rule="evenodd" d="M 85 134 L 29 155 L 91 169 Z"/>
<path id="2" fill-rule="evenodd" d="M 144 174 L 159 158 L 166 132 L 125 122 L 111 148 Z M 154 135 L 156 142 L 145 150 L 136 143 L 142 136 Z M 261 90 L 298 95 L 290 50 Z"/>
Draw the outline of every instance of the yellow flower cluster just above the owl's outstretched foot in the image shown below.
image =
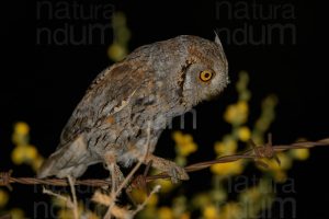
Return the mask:
<path id="1" fill-rule="evenodd" d="M 197 150 L 197 145 L 189 134 L 183 135 L 181 131 L 174 131 L 172 138 L 175 141 L 175 149 L 179 155 L 188 157 Z"/>

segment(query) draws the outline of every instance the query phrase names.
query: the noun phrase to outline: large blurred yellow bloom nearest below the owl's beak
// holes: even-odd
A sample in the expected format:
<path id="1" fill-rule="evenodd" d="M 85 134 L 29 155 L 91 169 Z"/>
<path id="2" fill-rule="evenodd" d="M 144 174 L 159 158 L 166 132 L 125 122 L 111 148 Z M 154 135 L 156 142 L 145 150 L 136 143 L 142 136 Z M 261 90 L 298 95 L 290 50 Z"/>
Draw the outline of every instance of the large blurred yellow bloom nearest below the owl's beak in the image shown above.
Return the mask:
<path id="1" fill-rule="evenodd" d="M 241 125 L 247 122 L 248 111 L 248 103 L 246 101 L 239 101 L 226 108 L 224 119 L 232 125 Z"/>

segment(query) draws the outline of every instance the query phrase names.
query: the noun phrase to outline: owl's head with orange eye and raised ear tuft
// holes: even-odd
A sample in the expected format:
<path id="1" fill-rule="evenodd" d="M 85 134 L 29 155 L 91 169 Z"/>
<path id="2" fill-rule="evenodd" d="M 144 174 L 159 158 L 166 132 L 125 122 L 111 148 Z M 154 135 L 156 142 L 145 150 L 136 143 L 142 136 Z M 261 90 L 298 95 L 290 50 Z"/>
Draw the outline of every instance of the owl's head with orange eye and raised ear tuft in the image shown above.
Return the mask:
<path id="1" fill-rule="evenodd" d="M 217 96 L 226 88 L 228 65 L 217 34 L 214 42 L 197 36 L 181 37 L 188 53 L 182 57 L 184 65 L 178 85 L 183 102 L 193 106 Z"/>

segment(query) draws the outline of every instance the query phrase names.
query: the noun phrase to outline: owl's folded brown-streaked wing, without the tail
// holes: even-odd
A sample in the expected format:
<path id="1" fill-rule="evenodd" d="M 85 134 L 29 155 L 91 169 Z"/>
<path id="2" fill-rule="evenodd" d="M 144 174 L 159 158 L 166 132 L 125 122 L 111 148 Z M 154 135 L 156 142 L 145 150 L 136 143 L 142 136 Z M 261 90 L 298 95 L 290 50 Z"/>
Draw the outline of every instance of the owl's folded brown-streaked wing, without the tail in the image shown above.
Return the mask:
<path id="1" fill-rule="evenodd" d="M 103 70 L 91 83 L 65 126 L 59 148 L 121 110 L 145 79 L 143 68 L 128 60 Z"/>

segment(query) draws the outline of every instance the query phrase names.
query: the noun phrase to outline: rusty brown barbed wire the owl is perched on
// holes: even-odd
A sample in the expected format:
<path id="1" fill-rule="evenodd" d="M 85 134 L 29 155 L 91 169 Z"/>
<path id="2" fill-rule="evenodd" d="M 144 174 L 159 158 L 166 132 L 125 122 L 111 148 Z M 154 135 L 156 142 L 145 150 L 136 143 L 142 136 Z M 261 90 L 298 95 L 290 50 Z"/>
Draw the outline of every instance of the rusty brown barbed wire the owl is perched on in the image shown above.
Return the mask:
<path id="1" fill-rule="evenodd" d="M 241 159 L 250 159 L 254 160 L 259 164 L 266 166 L 261 159 L 275 159 L 279 163 L 280 160 L 276 158 L 276 153 L 280 151 L 286 151 L 291 149 L 309 149 L 319 146 L 329 146 L 329 138 L 317 140 L 317 141 L 300 141 L 294 142 L 291 145 L 276 145 L 273 146 L 272 143 L 272 136 L 269 135 L 268 142 L 264 145 L 257 146 L 252 140 L 249 141 L 251 149 L 237 154 L 231 155 L 224 155 L 216 160 L 198 162 L 184 168 L 186 172 L 195 172 L 203 169 L 207 169 L 213 164 L 216 163 L 228 163 L 238 161 Z M 143 180 L 144 182 L 148 183 L 158 178 L 170 178 L 170 175 L 167 173 L 160 173 L 157 175 L 144 175 L 143 177 L 136 176 L 132 184 L 138 180 Z M 25 184 L 25 185 L 54 185 L 54 186 L 69 186 L 69 183 L 66 178 L 36 178 L 36 177 L 13 177 L 12 171 L 1 172 L 0 173 L 0 186 L 7 186 L 11 188 L 11 184 Z M 102 186 L 110 186 L 111 180 L 76 180 L 75 185 L 86 185 L 92 187 L 102 187 Z"/>

